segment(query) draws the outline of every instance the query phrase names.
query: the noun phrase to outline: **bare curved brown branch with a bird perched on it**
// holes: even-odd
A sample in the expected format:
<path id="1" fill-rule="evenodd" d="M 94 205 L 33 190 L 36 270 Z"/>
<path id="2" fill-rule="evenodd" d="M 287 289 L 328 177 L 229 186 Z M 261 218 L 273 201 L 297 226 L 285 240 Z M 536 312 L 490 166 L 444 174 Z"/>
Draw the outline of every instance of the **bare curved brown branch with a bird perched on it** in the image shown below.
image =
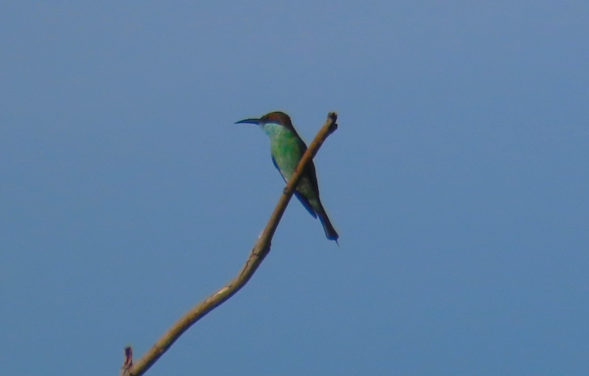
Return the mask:
<path id="1" fill-rule="evenodd" d="M 327 121 L 323 125 L 323 127 L 315 136 L 313 142 L 309 145 L 309 148 L 303 155 L 302 159 L 299 161 L 294 173 L 286 184 L 284 188 L 282 196 L 280 196 L 280 200 L 276 205 L 276 209 L 272 213 L 270 220 L 268 221 L 266 228 L 258 238 L 256 244 L 254 245 L 252 251 L 250 252 L 249 258 L 239 274 L 235 276 L 227 285 L 223 286 L 219 291 L 213 293 L 213 295 L 209 296 L 209 298 L 204 299 L 204 301 L 200 302 L 199 304 L 195 305 L 193 308 L 190 309 L 184 316 L 182 316 L 178 321 L 170 328 L 164 335 L 155 342 L 155 345 L 149 349 L 145 355 L 137 362 L 131 361 L 132 352 L 131 348 L 125 348 L 125 364 L 121 370 L 121 375 L 123 376 L 140 376 L 145 373 L 156 361 L 161 357 L 161 355 L 166 352 L 171 345 L 176 342 L 180 335 L 182 335 L 185 331 L 187 331 L 190 326 L 192 326 L 195 322 L 201 319 L 204 315 L 208 314 L 210 311 L 213 311 L 217 306 L 223 304 L 227 299 L 231 298 L 237 291 L 239 291 L 247 281 L 252 278 L 253 273 L 256 272 L 256 269 L 260 266 L 260 263 L 264 260 L 264 258 L 270 252 L 270 243 L 272 242 L 272 237 L 274 236 L 274 232 L 276 231 L 276 227 L 282 218 L 284 210 L 286 210 L 286 206 L 289 203 L 290 198 L 293 195 L 294 187 L 299 182 L 300 176 L 302 171 L 305 169 L 307 163 L 315 157 L 317 151 L 322 146 L 323 142 L 327 139 L 327 136 L 332 134 L 337 129 L 337 114 L 336 113 L 329 113 L 327 116 Z"/>

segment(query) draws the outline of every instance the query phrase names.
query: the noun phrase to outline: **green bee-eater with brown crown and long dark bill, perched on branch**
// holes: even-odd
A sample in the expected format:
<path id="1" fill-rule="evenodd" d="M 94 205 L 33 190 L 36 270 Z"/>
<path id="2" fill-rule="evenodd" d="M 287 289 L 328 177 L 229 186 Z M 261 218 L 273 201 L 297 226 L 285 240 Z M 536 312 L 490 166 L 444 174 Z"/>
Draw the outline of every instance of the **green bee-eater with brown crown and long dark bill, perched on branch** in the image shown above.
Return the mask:
<path id="1" fill-rule="evenodd" d="M 307 150 L 305 141 L 293 127 L 290 117 L 280 111 L 275 111 L 262 116 L 261 118 L 249 118 L 236 121 L 235 124 L 257 124 L 270 137 L 270 154 L 274 167 L 282 175 L 284 182 L 288 182 L 297 164 Z M 307 163 L 299 183 L 294 190 L 294 196 L 299 199 L 305 209 L 314 218 L 319 217 L 325 236 L 337 243 L 337 232 L 323 205 L 319 199 L 319 184 L 317 184 L 317 173 L 313 161 Z"/>

